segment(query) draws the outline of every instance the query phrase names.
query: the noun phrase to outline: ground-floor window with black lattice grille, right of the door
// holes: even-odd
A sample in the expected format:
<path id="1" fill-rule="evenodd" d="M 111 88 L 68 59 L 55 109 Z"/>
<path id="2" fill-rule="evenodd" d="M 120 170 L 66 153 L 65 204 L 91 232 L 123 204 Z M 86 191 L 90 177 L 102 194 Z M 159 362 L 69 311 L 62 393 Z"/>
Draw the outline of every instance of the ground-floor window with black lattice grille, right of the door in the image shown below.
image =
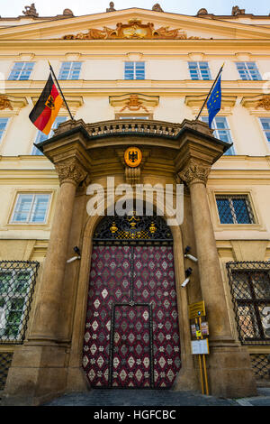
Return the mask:
<path id="1" fill-rule="evenodd" d="M 226 266 L 240 342 L 270 345 L 270 262 Z"/>

